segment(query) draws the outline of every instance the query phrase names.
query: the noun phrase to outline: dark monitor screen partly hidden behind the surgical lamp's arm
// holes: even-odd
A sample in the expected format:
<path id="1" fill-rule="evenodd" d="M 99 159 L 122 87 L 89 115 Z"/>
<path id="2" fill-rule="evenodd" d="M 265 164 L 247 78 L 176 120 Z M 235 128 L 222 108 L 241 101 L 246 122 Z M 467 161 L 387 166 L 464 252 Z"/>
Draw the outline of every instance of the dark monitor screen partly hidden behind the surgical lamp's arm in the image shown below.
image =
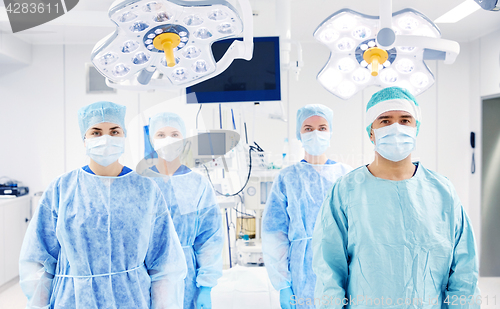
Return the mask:
<path id="1" fill-rule="evenodd" d="M 219 61 L 234 39 L 212 44 Z M 279 37 L 254 38 L 250 61 L 236 59 L 221 74 L 186 89 L 188 103 L 259 102 L 281 100 Z M 195 93 L 190 96 L 190 93 Z"/>

